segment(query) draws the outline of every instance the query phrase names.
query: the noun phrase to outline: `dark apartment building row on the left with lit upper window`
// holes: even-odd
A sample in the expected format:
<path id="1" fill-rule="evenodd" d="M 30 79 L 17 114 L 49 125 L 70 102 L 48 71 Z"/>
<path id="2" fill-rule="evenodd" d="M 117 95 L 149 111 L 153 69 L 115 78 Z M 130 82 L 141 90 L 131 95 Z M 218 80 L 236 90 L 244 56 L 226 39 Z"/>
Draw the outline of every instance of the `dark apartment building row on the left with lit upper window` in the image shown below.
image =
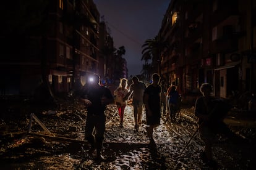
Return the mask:
<path id="1" fill-rule="evenodd" d="M 15 18 L 22 15 L 20 5 L 6 4 L 6 14 L 13 8 Z M 92 0 L 32 1 L 22 6 L 20 18 L 35 18 L 20 22 L 29 25 L 20 33 L 7 28 L 1 34 L 2 95 L 32 95 L 43 83 L 53 92 L 66 93 L 79 89 L 92 73 L 106 76 L 106 59 L 100 52 L 105 46 L 113 48 L 113 39 L 104 26 L 100 29 L 100 13 Z M 6 27 L 12 27 L 7 20 L 15 23 L 14 17 L 4 18 Z"/>

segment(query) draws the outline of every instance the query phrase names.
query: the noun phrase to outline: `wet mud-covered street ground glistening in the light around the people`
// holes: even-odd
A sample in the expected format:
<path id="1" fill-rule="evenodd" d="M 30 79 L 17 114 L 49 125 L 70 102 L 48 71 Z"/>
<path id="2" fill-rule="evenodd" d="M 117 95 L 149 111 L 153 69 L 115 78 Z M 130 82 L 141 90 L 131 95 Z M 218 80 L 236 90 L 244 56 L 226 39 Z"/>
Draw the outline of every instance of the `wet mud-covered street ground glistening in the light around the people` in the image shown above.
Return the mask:
<path id="1" fill-rule="evenodd" d="M 30 113 L 17 116 L 14 111 L 14 115 L 1 119 L 1 169 L 209 169 L 200 160 L 203 142 L 198 133 L 180 155 L 197 129 L 192 111 L 182 108 L 175 123 L 166 122 L 163 116 L 153 134 L 156 145 L 152 146 L 144 123 L 139 132 L 134 132 L 131 105 L 126 107 L 122 128 L 116 107 L 109 105 L 103 144 L 105 161 L 96 161 L 87 154 L 89 145 L 83 139 L 86 110 L 81 106 L 64 103 L 58 110 L 35 113 L 55 137 L 49 137 L 35 119 L 28 134 Z M 255 128 L 231 129 L 244 140 L 221 136 L 216 140 L 213 151 L 218 169 L 254 169 Z"/>

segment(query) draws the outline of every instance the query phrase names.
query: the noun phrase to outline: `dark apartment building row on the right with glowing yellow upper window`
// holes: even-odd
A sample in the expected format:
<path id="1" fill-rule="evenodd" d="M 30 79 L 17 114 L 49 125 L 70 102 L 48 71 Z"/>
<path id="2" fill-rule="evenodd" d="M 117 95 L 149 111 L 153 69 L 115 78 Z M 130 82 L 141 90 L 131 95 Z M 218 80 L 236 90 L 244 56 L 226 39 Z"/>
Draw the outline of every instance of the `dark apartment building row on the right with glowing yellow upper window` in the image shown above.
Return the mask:
<path id="1" fill-rule="evenodd" d="M 169 42 L 161 73 L 182 93 L 213 84 L 219 97 L 256 92 L 256 3 L 172 0 L 159 35 Z"/>

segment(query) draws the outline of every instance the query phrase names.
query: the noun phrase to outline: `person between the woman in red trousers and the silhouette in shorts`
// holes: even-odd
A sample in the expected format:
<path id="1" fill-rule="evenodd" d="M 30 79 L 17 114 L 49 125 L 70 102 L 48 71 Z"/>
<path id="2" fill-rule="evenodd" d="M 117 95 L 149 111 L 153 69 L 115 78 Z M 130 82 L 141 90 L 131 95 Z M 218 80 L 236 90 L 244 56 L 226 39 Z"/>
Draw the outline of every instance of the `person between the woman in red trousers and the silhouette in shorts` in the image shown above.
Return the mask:
<path id="1" fill-rule="evenodd" d="M 139 81 L 137 76 L 132 77 L 132 84 L 129 87 L 129 93 L 124 97 L 127 100 L 132 95 L 132 105 L 134 106 L 134 131 L 139 131 L 139 124 L 142 121 L 142 110 L 143 110 L 143 92 L 146 86 L 144 83 Z"/>

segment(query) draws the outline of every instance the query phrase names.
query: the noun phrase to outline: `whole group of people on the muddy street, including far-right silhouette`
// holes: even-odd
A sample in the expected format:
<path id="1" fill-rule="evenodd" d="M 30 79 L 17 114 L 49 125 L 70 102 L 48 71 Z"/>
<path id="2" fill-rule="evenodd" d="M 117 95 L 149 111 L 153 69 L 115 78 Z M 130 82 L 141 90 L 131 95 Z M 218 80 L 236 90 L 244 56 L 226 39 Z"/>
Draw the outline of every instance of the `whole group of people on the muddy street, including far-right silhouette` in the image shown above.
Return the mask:
<path id="1" fill-rule="evenodd" d="M 127 105 L 127 100 L 132 95 L 132 103 L 134 107 L 135 131 L 139 129 L 139 124 L 142 120 L 142 109 L 145 105 L 146 113 L 146 131 L 150 139 L 150 143 L 155 144 L 153 139 L 153 129 L 160 125 L 161 118 L 161 92 L 160 75 L 154 73 L 151 76 L 152 83 L 147 87 L 144 83 L 139 81 L 139 78 L 134 76 L 132 84 L 127 89 L 127 79 L 121 79 L 119 87 L 114 91 L 114 96 L 107 87 L 100 86 L 100 77 L 98 75 L 92 76 L 92 81 L 88 81 L 81 92 L 81 100 L 87 107 L 87 120 L 85 125 L 85 139 L 91 145 L 88 151 L 89 155 L 93 155 L 96 150 L 96 159 L 103 160 L 101 155 L 101 148 L 105 134 L 105 109 L 106 105 L 116 102 L 119 116 L 120 126 L 123 127 L 124 122 L 124 108 Z M 229 137 L 232 132 L 225 126 L 222 119 L 224 114 L 229 110 L 229 107 L 220 102 L 220 100 L 211 96 L 211 85 L 208 83 L 202 84 L 200 92 L 202 97 L 199 97 L 195 103 L 195 116 L 198 117 L 198 130 L 201 139 L 205 142 L 205 150 L 200 154 L 202 160 L 215 164 L 213 161 L 213 138 L 218 132 L 223 132 Z M 169 88 L 166 94 L 180 97 L 176 87 Z M 168 99 L 169 108 L 174 107 L 177 100 Z M 174 108 L 171 108 L 172 110 Z M 172 111 L 170 111 L 171 116 Z M 216 114 L 220 113 L 220 114 Z M 172 116 L 171 116 L 172 117 Z"/>

